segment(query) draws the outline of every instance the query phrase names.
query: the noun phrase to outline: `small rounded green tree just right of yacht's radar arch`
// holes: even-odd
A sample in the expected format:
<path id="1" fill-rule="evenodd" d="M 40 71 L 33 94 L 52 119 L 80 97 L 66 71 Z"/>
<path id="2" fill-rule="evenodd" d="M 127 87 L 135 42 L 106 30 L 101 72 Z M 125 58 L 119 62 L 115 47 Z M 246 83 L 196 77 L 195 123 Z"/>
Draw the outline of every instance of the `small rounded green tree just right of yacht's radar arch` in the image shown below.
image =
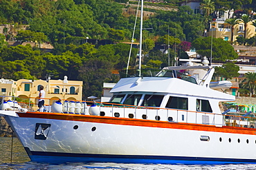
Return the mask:
<path id="1" fill-rule="evenodd" d="M 234 63 L 225 63 L 221 67 L 215 67 L 215 73 L 217 76 L 231 79 L 239 76 L 239 66 Z"/>

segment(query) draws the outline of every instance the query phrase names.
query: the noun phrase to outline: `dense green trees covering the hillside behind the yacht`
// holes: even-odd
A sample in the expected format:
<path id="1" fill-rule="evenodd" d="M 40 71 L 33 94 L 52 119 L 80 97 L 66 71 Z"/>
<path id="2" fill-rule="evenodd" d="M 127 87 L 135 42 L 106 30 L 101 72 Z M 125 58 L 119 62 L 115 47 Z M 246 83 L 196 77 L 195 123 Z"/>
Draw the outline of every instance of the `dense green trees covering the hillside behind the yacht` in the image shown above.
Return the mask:
<path id="1" fill-rule="evenodd" d="M 174 56 L 185 58 L 184 51 L 190 50 L 191 45 L 210 59 L 211 37 L 202 37 L 208 21 L 223 10 L 240 10 L 241 14 L 256 11 L 255 1 L 203 0 L 202 14 L 200 11 L 195 14 L 188 6 L 178 7 L 178 0 L 154 3 L 154 6 L 166 5 L 176 10 L 154 9 L 154 14 L 145 17 L 143 67 L 165 67 L 169 62 L 172 65 Z M 84 81 L 84 98 L 100 96 L 103 81 L 117 81 L 111 71 L 127 67 L 130 46 L 122 42 L 131 41 L 135 16 L 129 12 L 133 8 L 123 3 L 127 0 L 1 0 L 0 24 L 12 24 L 11 29 L 4 28 L 4 35 L 0 35 L 1 78 L 37 79 L 49 74 L 63 78 L 66 75 L 69 79 Z M 239 12 L 235 14 L 242 19 Z M 8 46 L 5 41 L 8 39 L 33 41 L 36 46 Z M 134 41 L 138 39 L 136 29 Z M 213 61 L 237 59 L 228 42 L 212 40 Z M 254 39 L 248 42 L 255 44 Z M 51 43 L 54 49 L 39 50 L 42 43 Z M 161 46 L 167 50 L 168 45 L 170 58 L 159 50 Z M 137 54 L 138 49 L 133 48 L 130 68 L 138 65 Z"/>

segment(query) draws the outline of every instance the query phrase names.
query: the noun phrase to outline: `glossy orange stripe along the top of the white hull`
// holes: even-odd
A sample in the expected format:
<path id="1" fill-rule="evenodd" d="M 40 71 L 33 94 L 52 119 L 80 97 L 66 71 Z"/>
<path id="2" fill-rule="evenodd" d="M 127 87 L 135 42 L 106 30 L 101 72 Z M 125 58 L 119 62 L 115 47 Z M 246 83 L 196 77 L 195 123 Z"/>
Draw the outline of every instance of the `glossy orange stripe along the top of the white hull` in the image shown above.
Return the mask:
<path id="1" fill-rule="evenodd" d="M 91 116 L 91 115 L 80 115 L 80 114 L 59 114 L 59 113 L 48 113 L 48 112 L 27 112 L 17 113 L 21 118 L 44 118 L 44 119 L 55 119 L 55 120 L 71 120 L 89 123 L 107 123 L 112 125 L 129 125 L 139 127 L 160 127 L 168 129 L 185 129 L 195 131 L 215 131 L 222 133 L 231 134 L 248 134 L 255 135 L 256 129 L 244 128 L 244 127 L 216 127 L 214 125 L 203 125 L 194 123 L 170 123 L 167 121 L 158 120 L 142 120 L 134 118 L 115 118 L 107 116 Z"/>

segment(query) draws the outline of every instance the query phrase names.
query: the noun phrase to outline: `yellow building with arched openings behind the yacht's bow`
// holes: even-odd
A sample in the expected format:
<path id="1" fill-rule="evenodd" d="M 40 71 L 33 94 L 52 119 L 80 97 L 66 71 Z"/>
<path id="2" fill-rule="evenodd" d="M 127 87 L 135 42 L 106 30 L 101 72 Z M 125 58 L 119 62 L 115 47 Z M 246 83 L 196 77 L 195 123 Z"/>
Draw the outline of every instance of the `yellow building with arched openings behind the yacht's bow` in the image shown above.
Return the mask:
<path id="1" fill-rule="evenodd" d="M 0 80 L 0 89 L 2 96 L 17 96 L 23 100 L 30 98 L 31 103 L 38 103 L 39 87 L 43 85 L 45 96 L 45 105 L 52 105 L 55 100 L 82 100 L 82 81 L 51 80 L 27 80 L 18 81 Z M 11 99 L 6 97 L 5 99 Z"/>

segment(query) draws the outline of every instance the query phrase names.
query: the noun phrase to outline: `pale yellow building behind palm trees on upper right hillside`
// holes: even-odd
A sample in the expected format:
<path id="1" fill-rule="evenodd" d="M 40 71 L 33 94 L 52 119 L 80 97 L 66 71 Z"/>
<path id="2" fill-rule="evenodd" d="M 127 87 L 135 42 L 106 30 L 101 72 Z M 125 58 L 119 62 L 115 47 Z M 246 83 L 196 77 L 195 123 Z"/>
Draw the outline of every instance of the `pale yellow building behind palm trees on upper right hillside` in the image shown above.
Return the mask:
<path id="1" fill-rule="evenodd" d="M 231 41 L 231 26 L 228 23 L 225 23 L 226 19 L 214 19 L 214 21 L 210 21 L 210 29 L 208 32 L 208 36 L 212 36 L 214 38 L 221 38 L 225 41 Z M 246 28 L 246 39 L 255 36 L 255 26 L 251 25 L 252 21 L 247 23 Z M 234 26 L 233 30 L 233 41 L 236 41 L 237 36 L 244 37 L 244 23 L 239 21 L 239 24 Z"/>

